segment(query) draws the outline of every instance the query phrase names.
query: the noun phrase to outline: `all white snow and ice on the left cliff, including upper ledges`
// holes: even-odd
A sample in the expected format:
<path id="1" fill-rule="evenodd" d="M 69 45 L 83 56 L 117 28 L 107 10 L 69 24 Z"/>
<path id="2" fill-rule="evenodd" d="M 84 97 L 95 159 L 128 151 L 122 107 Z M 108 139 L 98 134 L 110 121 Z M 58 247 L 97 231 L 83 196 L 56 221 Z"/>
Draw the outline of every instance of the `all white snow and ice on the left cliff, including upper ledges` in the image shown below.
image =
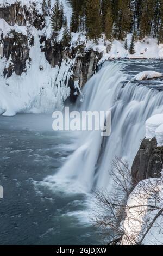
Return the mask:
<path id="1" fill-rule="evenodd" d="M 0 7 L 7 7 L 16 0 L 0 0 Z M 26 5 L 29 9 L 33 6 L 33 0 L 22 0 L 21 4 Z M 35 1 L 35 8 L 39 13 L 42 13 L 43 0 Z M 61 0 L 64 5 L 64 12 L 67 16 L 68 23 L 70 23 L 72 8 L 66 0 Z M 55 0 L 51 0 L 51 8 Z M 46 17 L 46 26 L 41 31 L 35 29 L 27 22 L 27 26 L 10 26 L 4 19 L 0 19 L 0 34 L 3 31 L 4 37 L 9 35 L 11 31 L 22 33 L 28 36 L 34 36 L 34 46 L 29 46 L 29 56 L 32 61 L 27 60 L 27 72 L 17 76 L 15 73 L 11 77 L 3 77 L 4 68 L 12 64 L 11 56 L 7 61 L 4 57 L 0 59 L 0 114 L 11 116 L 18 112 L 32 112 L 44 113 L 54 111 L 55 109 L 62 109 L 64 101 L 70 95 L 70 88 L 68 88 L 68 79 L 72 75 L 72 65 L 74 59 L 63 60 L 61 67 L 56 66 L 52 68 L 47 62 L 45 54 L 40 50 L 40 36 L 47 36 L 51 38 L 52 28 L 49 25 L 49 16 Z M 58 41 L 61 40 L 62 31 L 59 32 Z M 28 33 L 27 33 L 28 32 Z M 3 46 L 3 42 L 1 44 Z M 1 47 L 2 56 L 3 47 Z M 43 71 L 40 70 L 43 67 Z M 65 81 L 67 83 L 65 84 Z"/>

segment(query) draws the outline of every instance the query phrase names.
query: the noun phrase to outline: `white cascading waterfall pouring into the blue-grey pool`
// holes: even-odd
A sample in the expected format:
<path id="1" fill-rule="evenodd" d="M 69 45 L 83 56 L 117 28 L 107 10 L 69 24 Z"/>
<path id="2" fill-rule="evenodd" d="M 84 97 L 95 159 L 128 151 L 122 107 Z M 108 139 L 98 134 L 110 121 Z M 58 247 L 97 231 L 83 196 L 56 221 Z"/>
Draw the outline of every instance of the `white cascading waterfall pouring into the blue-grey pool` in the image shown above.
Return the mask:
<path id="1" fill-rule="evenodd" d="M 83 91 L 80 111 L 111 111 L 110 137 L 101 137 L 100 131 L 79 133 L 77 150 L 50 182 L 66 178 L 89 192 L 111 187 L 109 171 L 115 156 L 126 159 L 131 167 L 145 137 L 146 120 L 163 112 L 163 92 L 159 81 L 132 81 L 134 74 L 124 71 L 127 66 L 127 62 L 106 63 Z"/>

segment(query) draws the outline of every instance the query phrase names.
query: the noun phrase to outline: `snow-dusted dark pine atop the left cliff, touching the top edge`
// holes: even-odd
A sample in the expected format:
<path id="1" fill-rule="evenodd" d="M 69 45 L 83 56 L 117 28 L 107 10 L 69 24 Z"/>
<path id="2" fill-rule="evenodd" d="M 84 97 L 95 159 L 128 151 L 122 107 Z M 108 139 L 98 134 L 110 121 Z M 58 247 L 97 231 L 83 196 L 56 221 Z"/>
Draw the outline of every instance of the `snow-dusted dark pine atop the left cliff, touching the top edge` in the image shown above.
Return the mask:
<path id="1" fill-rule="evenodd" d="M 60 2 L 59 0 L 55 1 L 54 7 L 52 8 L 51 14 L 51 26 L 53 31 L 60 30 Z"/>

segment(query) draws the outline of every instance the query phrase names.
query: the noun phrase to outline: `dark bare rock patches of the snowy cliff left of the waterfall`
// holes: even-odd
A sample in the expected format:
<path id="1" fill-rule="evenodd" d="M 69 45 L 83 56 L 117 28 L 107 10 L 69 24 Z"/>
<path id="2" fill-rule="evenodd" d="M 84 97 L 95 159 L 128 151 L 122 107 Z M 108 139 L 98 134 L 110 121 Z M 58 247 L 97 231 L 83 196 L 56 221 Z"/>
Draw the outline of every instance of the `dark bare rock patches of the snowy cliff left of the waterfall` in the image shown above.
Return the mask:
<path id="1" fill-rule="evenodd" d="M 34 45 L 34 36 L 30 34 L 30 28 L 35 27 L 38 31 L 42 31 L 40 35 L 40 48 L 47 62 L 51 67 L 62 65 L 70 66 L 68 71 L 68 86 L 71 89 L 70 100 L 76 101 L 80 88 L 84 86 L 87 80 L 95 73 L 99 59 L 102 53 L 90 50 L 84 50 L 84 47 L 66 48 L 61 42 L 57 42 L 56 34 L 53 33 L 51 38 L 47 38 L 46 31 L 42 29 L 46 26 L 46 18 L 49 15 L 49 6 L 42 4 L 42 14 L 35 8 L 35 3 L 29 7 L 22 6 L 18 1 L 7 7 L 0 7 L 0 18 L 4 19 L 10 26 L 17 24 L 18 26 L 26 26 L 27 34 L 23 35 L 16 31 L 10 31 L 7 35 L 1 34 L 0 43 L 3 43 L 3 56 L 7 60 L 4 68 L 4 76 L 10 77 L 13 72 L 21 75 L 26 72 L 26 64 L 30 63 L 30 46 Z M 41 34 L 41 33 L 40 33 Z M 79 50 L 80 48 L 80 50 Z M 72 61 L 71 61 L 72 60 Z M 72 63 L 70 65 L 70 62 Z M 67 64 L 66 64 L 67 63 Z M 74 86 L 78 84 L 78 86 Z"/>

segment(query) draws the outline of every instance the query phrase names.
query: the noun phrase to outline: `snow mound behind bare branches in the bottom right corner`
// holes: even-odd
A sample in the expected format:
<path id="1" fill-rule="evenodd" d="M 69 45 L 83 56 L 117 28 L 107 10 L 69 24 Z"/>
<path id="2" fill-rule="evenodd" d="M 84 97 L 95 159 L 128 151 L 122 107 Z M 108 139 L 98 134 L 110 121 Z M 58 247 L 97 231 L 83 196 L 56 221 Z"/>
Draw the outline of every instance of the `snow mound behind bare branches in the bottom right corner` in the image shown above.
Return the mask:
<path id="1" fill-rule="evenodd" d="M 127 216 L 121 223 L 125 235 L 121 245 L 135 245 L 147 231 L 156 214 L 163 207 L 163 179 L 146 179 L 140 182 L 130 194 L 126 212 Z M 155 196 L 157 194 L 157 197 Z M 162 215 L 156 219 L 148 231 L 143 245 L 162 245 Z"/>

